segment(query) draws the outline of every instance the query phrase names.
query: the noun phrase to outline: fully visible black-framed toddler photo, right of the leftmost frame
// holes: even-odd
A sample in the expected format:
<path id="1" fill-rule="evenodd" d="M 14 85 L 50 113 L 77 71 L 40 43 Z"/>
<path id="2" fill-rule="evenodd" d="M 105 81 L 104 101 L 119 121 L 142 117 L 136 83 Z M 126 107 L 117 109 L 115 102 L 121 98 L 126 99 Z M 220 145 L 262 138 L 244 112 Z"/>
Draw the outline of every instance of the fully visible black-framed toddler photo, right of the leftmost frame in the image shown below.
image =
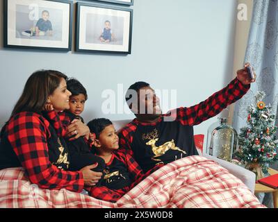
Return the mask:
<path id="1" fill-rule="evenodd" d="M 133 10 L 77 3 L 76 51 L 131 53 Z"/>

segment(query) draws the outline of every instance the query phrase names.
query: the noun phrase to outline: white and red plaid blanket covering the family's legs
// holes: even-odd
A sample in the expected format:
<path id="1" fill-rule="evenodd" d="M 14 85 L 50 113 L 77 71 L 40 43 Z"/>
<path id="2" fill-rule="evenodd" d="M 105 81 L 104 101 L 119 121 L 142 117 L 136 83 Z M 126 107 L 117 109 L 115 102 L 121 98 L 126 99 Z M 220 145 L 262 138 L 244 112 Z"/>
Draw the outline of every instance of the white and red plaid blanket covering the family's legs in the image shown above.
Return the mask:
<path id="1" fill-rule="evenodd" d="M 265 207 L 238 178 L 202 156 L 165 165 L 117 203 L 31 185 L 22 168 L 0 171 L 0 207 Z"/>

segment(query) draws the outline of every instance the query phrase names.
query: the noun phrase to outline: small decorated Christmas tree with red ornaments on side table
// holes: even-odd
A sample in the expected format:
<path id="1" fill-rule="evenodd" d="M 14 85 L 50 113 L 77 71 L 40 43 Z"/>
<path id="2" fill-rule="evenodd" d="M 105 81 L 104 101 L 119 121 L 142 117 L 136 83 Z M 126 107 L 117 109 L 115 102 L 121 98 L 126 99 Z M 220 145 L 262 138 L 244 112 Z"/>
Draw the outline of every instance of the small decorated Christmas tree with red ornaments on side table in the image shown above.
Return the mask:
<path id="1" fill-rule="evenodd" d="M 247 109 L 247 127 L 240 129 L 239 148 L 235 152 L 235 158 L 254 171 L 258 178 L 262 177 L 258 169 L 268 173 L 270 164 L 278 160 L 278 140 L 275 138 L 277 126 L 273 126 L 275 114 L 270 105 L 263 103 L 264 97 L 264 92 L 258 92 L 255 96 L 256 106 L 250 105 Z"/>

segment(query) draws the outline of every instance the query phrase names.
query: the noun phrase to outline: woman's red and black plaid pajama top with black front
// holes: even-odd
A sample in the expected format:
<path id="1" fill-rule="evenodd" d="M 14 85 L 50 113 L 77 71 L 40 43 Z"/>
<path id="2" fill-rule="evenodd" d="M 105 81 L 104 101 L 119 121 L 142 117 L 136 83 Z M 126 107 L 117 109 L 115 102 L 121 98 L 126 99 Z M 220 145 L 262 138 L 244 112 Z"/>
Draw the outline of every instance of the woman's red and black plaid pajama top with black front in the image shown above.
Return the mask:
<path id="1" fill-rule="evenodd" d="M 63 137 L 42 114 L 19 112 L 4 126 L 0 144 L 0 169 L 23 167 L 29 180 L 43 189 L 81 192 L 81 171 L 66 171 L 70 158 Z"/>

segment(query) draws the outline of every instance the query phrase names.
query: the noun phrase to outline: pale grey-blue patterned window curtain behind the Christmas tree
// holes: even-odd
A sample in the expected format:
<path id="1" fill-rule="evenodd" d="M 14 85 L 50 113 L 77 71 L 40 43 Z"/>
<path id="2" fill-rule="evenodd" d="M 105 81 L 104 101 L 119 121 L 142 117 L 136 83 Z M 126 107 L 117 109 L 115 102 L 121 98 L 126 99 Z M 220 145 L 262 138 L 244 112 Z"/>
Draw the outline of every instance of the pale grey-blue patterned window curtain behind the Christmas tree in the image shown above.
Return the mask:
<path id="1" fill-rule="evenodd" d="M 278 0 L 254 0 L 245 62 L 256 71 L 256 83 L 236 103 L 233 125 L 237 132 L 247 125 L 247 107 L 255 103 L 257 91 L 264 91 L 264 102 L 277 113 L 278 103 Z"/>

